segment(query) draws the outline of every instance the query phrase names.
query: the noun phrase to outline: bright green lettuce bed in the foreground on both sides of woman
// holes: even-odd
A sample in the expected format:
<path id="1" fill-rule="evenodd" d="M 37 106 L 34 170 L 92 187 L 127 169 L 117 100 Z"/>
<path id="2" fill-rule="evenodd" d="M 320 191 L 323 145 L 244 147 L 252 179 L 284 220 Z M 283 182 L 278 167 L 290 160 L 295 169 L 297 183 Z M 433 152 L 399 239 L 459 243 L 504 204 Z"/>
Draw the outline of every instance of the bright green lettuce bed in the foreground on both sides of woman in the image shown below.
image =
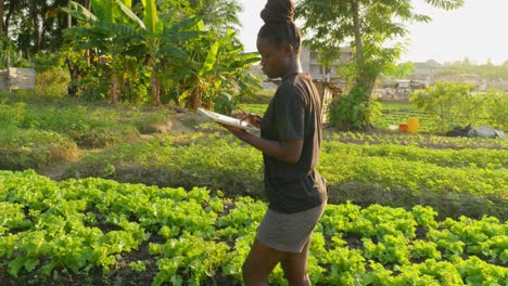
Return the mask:
<path id="1" fill-rule="evenodd" d="M 261 200 L 211 196 L 200 187 L 56 182 L 34 171 L 1 171 L 0 281 L 85 285 L 113 283 L 123 273 L 125 285 L 239 285 L 265 210 Z M 422 206 L 329 205 L 313 235 L 313 283 L 508 283 L 507 222 L 436 216 Z M 282 275 L 278 266 L 270 283 L 284 285 Z"/>

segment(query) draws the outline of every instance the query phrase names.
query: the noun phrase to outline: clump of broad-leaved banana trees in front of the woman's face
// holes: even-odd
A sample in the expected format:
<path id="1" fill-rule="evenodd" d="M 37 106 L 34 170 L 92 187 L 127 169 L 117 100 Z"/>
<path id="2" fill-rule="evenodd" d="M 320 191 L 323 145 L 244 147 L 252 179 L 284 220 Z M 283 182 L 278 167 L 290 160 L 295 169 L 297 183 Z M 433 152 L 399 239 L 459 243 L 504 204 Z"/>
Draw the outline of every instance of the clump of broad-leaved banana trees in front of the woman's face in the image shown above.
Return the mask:
<path id="1" fill-rule="evenodd" d="M 113 103 L 118 101 L 119 79 L 130 80 L 130 76 L 125 76 L 128 73 L 125 63 L 131 63 L 132 57 L 139 58 L 138 72 L 129 75 L 149 79 L 155 105 L 162 103 L 165 90 L 177 103 L 185 101 L 191 108 L 203 103 L 213 108 L 219 99 L 258 86 L 245 72 L 258 56 L 243 53 L 232 30 L 224 35 L 206 30 L 201 17 L 181 15 L 178 9 L 158 15 L 155 0 L 142 1 L 142 20 L 120 0 L 113 5 L 100 4 L 93 2 L 96 14 L 92 14 L 72 2 L 66 11 L 80 20 L 81 25 L 65 31 L 69 39 L 80 43 L 78 48 L 94 48 L 109 60 Z M 115 9 L 120 12 L 116 16 Z"/>

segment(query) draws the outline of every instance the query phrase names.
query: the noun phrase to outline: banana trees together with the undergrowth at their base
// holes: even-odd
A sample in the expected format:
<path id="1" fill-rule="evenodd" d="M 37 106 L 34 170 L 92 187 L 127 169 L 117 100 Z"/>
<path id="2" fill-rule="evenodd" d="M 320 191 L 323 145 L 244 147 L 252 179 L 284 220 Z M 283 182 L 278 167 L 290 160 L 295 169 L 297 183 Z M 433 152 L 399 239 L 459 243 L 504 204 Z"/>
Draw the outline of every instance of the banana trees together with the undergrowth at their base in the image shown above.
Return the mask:
<path id="1" fill-rule="evenodd" d="M 230 113 L 234 98 L 259 86 L 247 69 L 258 56 L 243 53 L 231 29 L 206 30 L 202 17 L 192 14 L 187 3 L 161 3 L 164 13 L 158 13 L 153 0 L 142 3 L 142 16 L 120 1 L 93 2 L 97 15 L 77 3 L 66 10 L 84 21 L 84 25 L 66 29 L 66 38 L 79 50 L 98 51 L 68 57 L 73 68 L 80 67 L 74 70 L 82 75 L 73 77 L 80 90 L 77 95 L 110 98 L 113 103 L 203 105 Z M 92 65 L 82 65 L 84 55 Z M 92 56 L 101 56 L 101 61 L 93 63 Z M 104 77 L 110 82 L 98 80 Z"/>

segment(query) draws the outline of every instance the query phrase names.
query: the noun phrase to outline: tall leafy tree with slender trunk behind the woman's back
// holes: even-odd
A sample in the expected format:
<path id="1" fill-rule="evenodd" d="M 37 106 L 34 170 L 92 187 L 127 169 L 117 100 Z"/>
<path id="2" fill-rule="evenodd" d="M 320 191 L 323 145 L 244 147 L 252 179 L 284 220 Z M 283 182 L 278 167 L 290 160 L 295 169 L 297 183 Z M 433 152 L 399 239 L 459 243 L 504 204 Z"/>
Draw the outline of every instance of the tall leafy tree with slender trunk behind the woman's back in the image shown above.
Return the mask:
<path id="1" fill-rule="evenodd" d="M 463 0 L 424 0 L 445 10 L 457 9 Z M 407 36 L 408 22 L 431 21 L 430 16 L 414 11 L 411 0 L 301 0 L 296 16 L 304 18 L 307 34 L 305 43 L 325 54 L 338 53 L 350 46 L 355 54 L 346 75 L 370 94 L 377 77 L 399 57 L 403 44 L 392 47 L 390 40 Z"/>

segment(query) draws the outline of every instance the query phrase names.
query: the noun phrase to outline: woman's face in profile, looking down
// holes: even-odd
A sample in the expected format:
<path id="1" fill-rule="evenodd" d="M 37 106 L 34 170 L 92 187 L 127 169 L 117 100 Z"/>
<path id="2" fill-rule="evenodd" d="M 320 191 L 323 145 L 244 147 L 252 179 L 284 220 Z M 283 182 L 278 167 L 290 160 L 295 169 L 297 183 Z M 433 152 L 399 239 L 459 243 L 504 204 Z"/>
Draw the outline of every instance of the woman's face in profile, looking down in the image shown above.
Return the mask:
<path id="1" fill-rule="evenodd" d="M 257 37 L 257 51 L 261 54 L 263 73 L 268 78 L 283 77 L 289 68 L 289 54 L 283 47 L 277 47 L 262 37 Z"/>

